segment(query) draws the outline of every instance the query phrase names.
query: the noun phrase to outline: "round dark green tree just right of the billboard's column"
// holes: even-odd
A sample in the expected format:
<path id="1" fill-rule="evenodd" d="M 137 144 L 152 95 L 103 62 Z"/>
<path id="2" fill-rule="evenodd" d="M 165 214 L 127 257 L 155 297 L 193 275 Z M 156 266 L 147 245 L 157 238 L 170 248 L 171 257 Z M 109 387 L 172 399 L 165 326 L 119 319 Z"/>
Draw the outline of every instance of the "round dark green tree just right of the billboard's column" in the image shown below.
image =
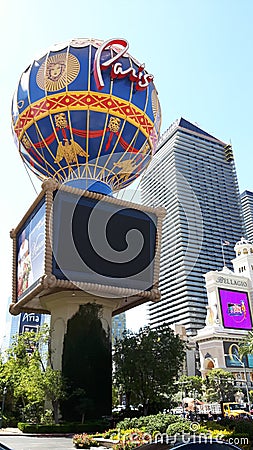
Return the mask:
<path id="1" fill-rule="evenodd" d="M 114 382 L 123 389 L 126 406 L 143 406 L 147 414 L 168 402 L 185 357 L 184 343 L 166 325 L 126 332 L 116 341 Z"/>

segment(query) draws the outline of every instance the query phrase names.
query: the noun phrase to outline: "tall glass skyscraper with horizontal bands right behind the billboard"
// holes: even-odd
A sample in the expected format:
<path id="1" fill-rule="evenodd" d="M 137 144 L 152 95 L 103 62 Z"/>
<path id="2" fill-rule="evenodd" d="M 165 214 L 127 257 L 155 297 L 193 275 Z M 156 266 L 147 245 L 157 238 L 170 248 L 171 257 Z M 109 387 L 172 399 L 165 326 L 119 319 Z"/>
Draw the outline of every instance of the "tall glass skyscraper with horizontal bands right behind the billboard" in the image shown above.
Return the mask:
<path id="1" fill-rule="evenodd" d="M 149 304 L 151 327 L 181 323 L 189 335 L 205 324 L 203 275 L 228 267 L 243 235 L 231 145 L 181 118 L 162 135 L 141 183 L 142 201 L 164 206 L 161 300 Z"/>

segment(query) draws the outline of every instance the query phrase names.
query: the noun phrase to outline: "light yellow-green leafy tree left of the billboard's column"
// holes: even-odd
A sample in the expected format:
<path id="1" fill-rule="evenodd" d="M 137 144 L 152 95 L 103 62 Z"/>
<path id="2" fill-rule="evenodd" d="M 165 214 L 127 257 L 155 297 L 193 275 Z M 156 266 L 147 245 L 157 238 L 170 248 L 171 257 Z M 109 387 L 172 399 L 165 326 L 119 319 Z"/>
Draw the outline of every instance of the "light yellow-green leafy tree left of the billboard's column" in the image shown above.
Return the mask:
<path id="1" fill-rule="evenodd" d="M 38 422 L 45 400 L 51 400 L 58 423 L 58 401 L 64 396 L 64 382 L 60 372 L 48 366 L 49 343 L 47 326 L 42 326 L 38 332 L 17 334 L 6 352 L 6 362 L 2 363 L 0 386 L 8 388 L 10 409 L 16 415 L 21 410 L 23 420 Z"/>

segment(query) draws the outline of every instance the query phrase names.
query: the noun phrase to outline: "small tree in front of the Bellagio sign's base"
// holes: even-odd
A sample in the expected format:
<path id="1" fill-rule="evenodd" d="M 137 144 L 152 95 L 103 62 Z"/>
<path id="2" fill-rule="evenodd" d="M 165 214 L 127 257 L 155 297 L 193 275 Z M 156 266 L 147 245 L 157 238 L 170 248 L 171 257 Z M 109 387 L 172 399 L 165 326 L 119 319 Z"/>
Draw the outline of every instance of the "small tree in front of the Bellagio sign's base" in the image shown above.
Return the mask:
<path id="1" fill-rule="evenodd" d="M 212 369 L 204 383 L 207 401 L 231 401 L 234 397 L 234 376 L 223 369 Z"/>

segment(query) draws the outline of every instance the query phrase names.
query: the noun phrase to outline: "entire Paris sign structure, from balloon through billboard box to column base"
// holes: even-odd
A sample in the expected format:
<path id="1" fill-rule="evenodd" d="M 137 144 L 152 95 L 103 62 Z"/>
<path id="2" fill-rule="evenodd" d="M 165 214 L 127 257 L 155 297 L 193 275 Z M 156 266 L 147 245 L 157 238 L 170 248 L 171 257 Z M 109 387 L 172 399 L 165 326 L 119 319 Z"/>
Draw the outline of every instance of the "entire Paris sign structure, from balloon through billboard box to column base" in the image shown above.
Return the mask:
<path id="1" fill-rule="evenodd" d="M 11 232 L 10 312 L 51 314 L 53 367 L 88 392 L 99 415 L 111 413 L 112 315 L 159 299 L 164 211 L 113 197 L 146 169 L 161 126 L 153 75 L 128 47 L 125 39 L 55 45 L 23 72 L 12 101 L 19 154 L 43 184 Z M 97 355 L 87 351 L 93 342 Z M 67 402 L 63 418 L 77 420 L 74 410 Z"/>

